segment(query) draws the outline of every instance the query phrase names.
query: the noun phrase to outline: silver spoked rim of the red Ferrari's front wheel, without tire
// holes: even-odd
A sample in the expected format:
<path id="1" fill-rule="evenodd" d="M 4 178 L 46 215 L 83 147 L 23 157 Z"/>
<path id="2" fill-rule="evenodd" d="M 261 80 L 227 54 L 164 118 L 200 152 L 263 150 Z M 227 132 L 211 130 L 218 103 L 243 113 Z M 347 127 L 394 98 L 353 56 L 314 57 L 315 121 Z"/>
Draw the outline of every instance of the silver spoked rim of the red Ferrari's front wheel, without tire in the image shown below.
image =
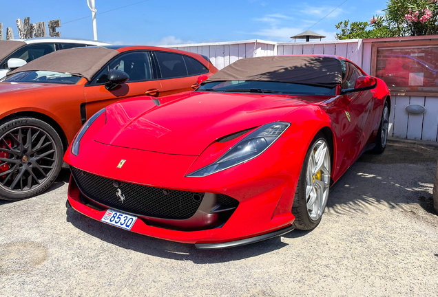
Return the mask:
<path id="1" fill-rule="evenodd" d="M 330 152 L 320 139 L 311 149 L 306 171 L 306 206 L 309 217 L 317 221 L 326 207 L 330 188 Z"/>

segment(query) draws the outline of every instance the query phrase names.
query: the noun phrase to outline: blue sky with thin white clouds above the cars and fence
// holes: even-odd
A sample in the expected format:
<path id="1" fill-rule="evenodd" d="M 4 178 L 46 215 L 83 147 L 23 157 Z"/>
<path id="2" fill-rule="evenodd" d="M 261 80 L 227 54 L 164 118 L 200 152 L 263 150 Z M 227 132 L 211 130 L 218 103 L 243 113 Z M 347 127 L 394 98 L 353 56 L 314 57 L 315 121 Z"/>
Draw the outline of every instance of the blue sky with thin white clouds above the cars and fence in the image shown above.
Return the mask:
<path id="1" fill-rule="evenodd" d="M 96 0 L 98 13 L 141 0 Z M 290 41 L 289 37 L 309 29 L 344 0 L 333 1 L 177 1 L 149 0 L 97 15 L 98 39 L 113 44 L 169 45 L 215 41 L 264 39 Z M 348 0 L 312 31 L 333 40 L 335 24 L 344 19 L 369 21 L 382 14 L 384 0 Z M 63 37 L 92 39 L 91 12 L 86 0 L 1 1 L 0 23 L 18 35 L 16 19 L 30 21 L 61 19 Z M 79 21 L 69 21 L 87 17 Z M 18 38 L 18 37 L 15 37 Z"/>

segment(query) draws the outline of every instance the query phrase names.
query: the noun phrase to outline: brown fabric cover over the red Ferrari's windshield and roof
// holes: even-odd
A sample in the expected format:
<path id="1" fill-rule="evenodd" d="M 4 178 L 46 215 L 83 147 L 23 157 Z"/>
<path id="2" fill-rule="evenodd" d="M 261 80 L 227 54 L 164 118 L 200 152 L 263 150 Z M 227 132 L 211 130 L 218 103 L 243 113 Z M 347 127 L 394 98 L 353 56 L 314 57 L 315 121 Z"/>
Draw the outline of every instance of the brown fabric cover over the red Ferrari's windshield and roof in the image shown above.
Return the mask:
<path id="1" fill-rule="evenodd" d="M 238 60 L 213 74 L 205 83 L 260 80 L 335 87 L 342 83 L 342 67 L 328 56 L 266 56 Z"/>

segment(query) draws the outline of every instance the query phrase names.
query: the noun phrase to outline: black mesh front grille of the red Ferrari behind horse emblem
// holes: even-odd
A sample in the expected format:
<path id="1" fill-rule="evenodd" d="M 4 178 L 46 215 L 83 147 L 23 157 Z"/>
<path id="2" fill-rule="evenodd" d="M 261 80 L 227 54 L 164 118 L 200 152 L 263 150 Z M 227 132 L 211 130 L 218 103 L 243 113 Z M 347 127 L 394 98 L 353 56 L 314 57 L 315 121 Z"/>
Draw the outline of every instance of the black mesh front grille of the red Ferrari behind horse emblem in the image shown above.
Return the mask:
<path id="1" fill-rule="evenodd" d="M 146 217 L 189 219 L 198 210 L 205 194 L 129 183 L 121 183 L 116 188 L 114 179 L 92 175 L 78 168 L 70 168 L 76 183 L 85 196 L 110 208 Z M 116 195 L 118 188 L 125 197 L 123 202 Z"/>

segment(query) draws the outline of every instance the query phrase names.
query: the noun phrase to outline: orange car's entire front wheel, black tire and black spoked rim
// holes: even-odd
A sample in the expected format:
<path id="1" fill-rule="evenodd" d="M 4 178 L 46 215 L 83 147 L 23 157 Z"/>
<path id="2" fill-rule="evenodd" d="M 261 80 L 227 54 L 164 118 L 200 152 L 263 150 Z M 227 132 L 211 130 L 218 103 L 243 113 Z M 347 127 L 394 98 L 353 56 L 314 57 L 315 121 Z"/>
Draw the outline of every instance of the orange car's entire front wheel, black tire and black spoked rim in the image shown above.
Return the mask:
<path id="1" fill-rule="evenodd" d="M 0 121 L 0 199 L 41 194 L 58 177 L 62 163 L 63 144 L 52 126 L 30 117 Z"/>

